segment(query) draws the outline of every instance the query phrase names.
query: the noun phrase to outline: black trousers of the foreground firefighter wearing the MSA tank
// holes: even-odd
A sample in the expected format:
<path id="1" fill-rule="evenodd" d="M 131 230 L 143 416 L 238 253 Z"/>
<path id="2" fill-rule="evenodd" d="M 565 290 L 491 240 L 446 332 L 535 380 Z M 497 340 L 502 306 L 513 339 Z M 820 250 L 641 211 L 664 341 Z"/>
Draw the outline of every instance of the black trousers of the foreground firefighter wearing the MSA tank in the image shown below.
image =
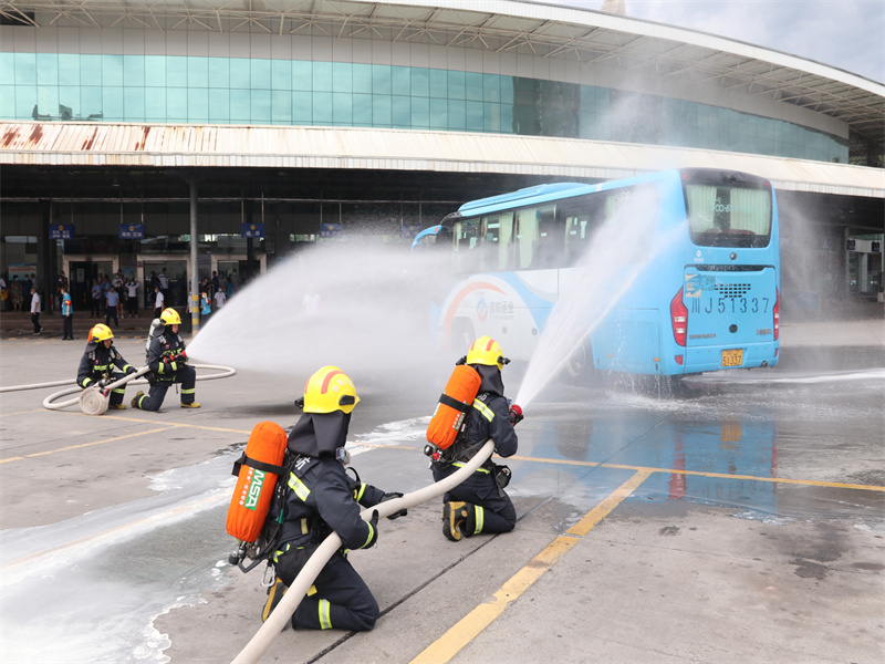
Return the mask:
<path id="1" fill-rule="evenodd" d="M 288 558 L 298 559 L 287 564 Z M 291 549 L 277 564 L 277 574 L 291 585 L 306 563 L 298 551 Z M 296 630 L 346 630 L 366 632 L 375 626 L 381 610 L 366 582 L 347 559 L 335 552 L 313 582 L 316 592 L 301 600 L 292 616 Z"/>

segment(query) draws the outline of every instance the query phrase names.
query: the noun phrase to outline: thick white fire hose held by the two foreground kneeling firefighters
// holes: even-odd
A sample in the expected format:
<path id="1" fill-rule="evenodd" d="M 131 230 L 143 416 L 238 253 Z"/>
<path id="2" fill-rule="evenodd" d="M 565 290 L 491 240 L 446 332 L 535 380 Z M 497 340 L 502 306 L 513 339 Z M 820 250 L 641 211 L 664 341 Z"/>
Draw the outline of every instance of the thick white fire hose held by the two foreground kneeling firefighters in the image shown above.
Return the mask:
<path id="1" fill-rule="evenodd" d="M 383 517 L 389 517 L 392 513 L 403 508 L 415 507 L 431 498 L 441 496 L 467 479 L 477 468 L 486 463 L 486 459 L 491 456 L 493 450 L 494 442 L 489 438 L 472 459 L 448 477 L 426 486 L 423 489 L 418 489 L 417 491 L 406 494 L 402 498 L 394 498 L 393 500 L 379 502 L 375 507 L 366 508 L 360 516 L 364 521 L 368 521 L 372 519 L 372 512 L 377 510 L 378 518 L 381 519 Z M 308 563 L 301 569 L 298 577 L 295 577 L 295 580 L 292 581 L 292 585 L 268 616 L 267 622 L 256 632 L 256 635 L 252 636 L 252 640 L 240 651 L 240 654 L 233 658 L 232 664 L 254 664 L 264 655 L 273 639 L 280 634 L 285 623 L 292 618 L 295 609 L 298 609 L 301 600 L 308 594 L 308 589 L 313 584 L 316 577 L 325 567 L 325 563 L 341 546 L 341 538 L 335 532 L 323 540 L 323 543 L 314 551 L 313 556 L 308 560 Z"/>

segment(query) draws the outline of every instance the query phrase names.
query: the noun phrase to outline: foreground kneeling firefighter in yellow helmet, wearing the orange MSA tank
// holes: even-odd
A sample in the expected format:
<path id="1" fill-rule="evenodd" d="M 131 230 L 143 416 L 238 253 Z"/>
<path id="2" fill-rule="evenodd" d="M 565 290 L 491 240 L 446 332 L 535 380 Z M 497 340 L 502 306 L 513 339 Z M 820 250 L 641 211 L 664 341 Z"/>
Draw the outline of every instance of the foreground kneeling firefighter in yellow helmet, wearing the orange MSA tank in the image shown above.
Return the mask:
<path id="1" fill-rule="evenodd" d="M 308 630 L 366 631 L 375 625 L 378 604 L 365 581 L 347 561 L 347 549 L 368 549 L 378 539 L 378 512 L 371 521 L 360 517 L 360 506 L 373 507 L 402 496 L 385 494 L 351 479 L 344 449 L 351 412 L 360 402 L 353 381 L 336 366 L 324 366 L 304 387 L 304 414 L 289 434 L 289 450 L 298 455 L 289 475 L 280 547 L 274 554 L 277 582 L 270 589 L 263 619 L 284 588 L 322 541 L 335 531 L 343 542 L 301 601 L 292 626 Z M 405 510 L 392 515 L 395 518 Z"/>

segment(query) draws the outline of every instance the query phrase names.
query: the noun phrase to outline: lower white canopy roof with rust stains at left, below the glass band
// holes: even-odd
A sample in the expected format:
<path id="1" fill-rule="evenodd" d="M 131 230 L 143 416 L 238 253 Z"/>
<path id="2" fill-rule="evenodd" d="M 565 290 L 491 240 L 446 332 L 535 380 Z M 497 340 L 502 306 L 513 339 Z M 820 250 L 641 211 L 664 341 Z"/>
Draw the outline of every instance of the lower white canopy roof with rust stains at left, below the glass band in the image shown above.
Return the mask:
<path id="1" fill-rule="evenodd" d="M 751 173 L 788 191 L 885 198 L 882 168 L 629 143 L 358 127 L 8 123 L 0 124 L 0 165 L 331 168 L 579 179 L 711 167 Z"/>

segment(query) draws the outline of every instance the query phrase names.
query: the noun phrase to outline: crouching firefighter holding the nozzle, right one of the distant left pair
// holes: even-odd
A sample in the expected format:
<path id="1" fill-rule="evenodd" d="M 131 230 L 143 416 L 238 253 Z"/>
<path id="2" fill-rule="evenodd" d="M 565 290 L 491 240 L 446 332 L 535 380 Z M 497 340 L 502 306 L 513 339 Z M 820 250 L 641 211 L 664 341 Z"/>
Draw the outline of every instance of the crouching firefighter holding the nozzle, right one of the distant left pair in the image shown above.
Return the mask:
<path id="1" fill-rule="evenodd" d="M 147 396 L 144 392 L 138 392 L 132 400 L 132 407 L 159 411 L 163 400 L 166 398 L 166 391 L 174 383 L 181 383 L 181 407 L 199 408 L 200 405 L 194 401 L 197 393 L 197 372 L 188 366 L 185 340 L 178 334 L 181 317 L 175 309 L 164 309 L 159 320 L 163 324 L 154 332 L 147 353 L 147 365 L 150 369 L 147 380 L 150 390 Z"/>

